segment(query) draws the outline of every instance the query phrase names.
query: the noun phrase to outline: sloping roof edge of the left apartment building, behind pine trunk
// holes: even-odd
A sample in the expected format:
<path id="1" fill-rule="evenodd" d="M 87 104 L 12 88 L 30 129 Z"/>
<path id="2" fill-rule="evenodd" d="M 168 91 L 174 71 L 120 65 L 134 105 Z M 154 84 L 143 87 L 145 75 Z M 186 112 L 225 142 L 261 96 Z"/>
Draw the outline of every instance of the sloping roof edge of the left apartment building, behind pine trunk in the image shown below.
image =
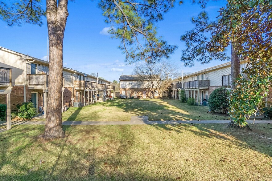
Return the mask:
<path id="1" fill-rule="evenodd" d="M 3 50 L 4 49 L 4 50 Z M 45 61 L 45 60 L 42 60 L 42 59 L 39 59 L 39 58 L 35 58 L 35 57 L 31 57 L 29 55 L 26 55 L 26 54 L 22 54 L 22 53 L 19 53 L 19 52 L 16 52 L 14 50 L 10 50 L 10 49 L 7 49 L 7 48 L 4 48 L 2 46 L 0 46 L 0 50 L 3 50 L 3 51 L 10 51 L 10 52 L 14 52 L 13 54 L 20 54 L 21 57 L 23 57 L 24 59 L 27 59 L 27 60 L 35 60 L 35 62 L 40 62 L 40 63 L 43 63 L 43 64 L 46 64 L 48 65 L 49 62 Z M 72 71 L 72 72 L 76 72 L 77 74 L 83 74 L 85 77 L 89 76 L 89 77 L 93 77 L 93 78 L 97 78 L 96 76 L 93 76 L 93 75 L 89 75 L 89 74 L 85 74 L 83 72 L 80 72 L 80 71 L 77 71 L 77 70 L 73 70 L 72 68 L 67 68 L 67 67 L 64 67 L 63 66 L 63 69 L 64 70 L 68 70 L 68 71 Z M 107 81 L 107 82 L 110 82 L 106 79 L 103 79 L 103 78 L 99 78 L 100 80 L 104 80 L 104 81 Z"/>

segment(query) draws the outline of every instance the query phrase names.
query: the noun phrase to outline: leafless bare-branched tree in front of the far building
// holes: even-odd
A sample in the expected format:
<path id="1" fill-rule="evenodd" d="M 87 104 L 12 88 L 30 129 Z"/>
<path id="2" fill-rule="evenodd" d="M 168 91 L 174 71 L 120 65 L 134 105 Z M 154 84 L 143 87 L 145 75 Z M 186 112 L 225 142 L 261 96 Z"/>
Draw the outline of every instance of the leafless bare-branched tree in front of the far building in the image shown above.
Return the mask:
<path id="1" fill-rule="evenodd" d="M 138 87 L 148 90 L 155 97 L 155 93 L 162 98 L 171 84 L 181 79 L 177 66 L 170 61 L 154 63 L 142 62 L 135 66 L 133 74 L 136 75 Z"/>

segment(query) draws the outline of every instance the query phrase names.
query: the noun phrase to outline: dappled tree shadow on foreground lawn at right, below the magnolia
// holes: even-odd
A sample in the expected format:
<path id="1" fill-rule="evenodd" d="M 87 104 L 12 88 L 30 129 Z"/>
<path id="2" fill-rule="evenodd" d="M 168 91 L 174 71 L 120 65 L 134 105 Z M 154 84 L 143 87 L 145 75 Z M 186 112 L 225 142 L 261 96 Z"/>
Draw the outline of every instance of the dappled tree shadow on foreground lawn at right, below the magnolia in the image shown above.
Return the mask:
<path id="1" fill-rule="evenodd" d="M 227 124 L 153 124 L 159 131 L 192 132 L 201 138 L 216 138 L 216 143 L 238 150 L 252 149 L 272 157 L 272 125 L 251 125 L 252 131 L 227 128 Z M 217 140 L 218 139 L 218 140 Z M 231 143 L 231 144 L 230 144 Z"/>

